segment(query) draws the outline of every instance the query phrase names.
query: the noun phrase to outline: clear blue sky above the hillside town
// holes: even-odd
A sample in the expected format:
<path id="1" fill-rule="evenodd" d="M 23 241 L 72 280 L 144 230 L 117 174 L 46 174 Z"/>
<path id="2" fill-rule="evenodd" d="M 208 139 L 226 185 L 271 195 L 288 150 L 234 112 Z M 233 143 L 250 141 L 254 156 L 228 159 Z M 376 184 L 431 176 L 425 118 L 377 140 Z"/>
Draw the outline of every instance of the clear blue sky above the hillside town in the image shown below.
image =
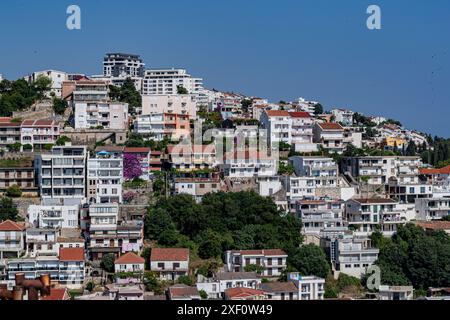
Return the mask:
<path id="1" fill-rule="evenodd" d="M 66 29 L 66 8 L 82 30 Z M 382 9 L 382 30 L 366 9 Z M 101 73 L 104 53 L 185 67 L 209 88 L 299 96 L 450 137 L 448 0 L 15 0 L 0 3 L 0 73 Z"/>

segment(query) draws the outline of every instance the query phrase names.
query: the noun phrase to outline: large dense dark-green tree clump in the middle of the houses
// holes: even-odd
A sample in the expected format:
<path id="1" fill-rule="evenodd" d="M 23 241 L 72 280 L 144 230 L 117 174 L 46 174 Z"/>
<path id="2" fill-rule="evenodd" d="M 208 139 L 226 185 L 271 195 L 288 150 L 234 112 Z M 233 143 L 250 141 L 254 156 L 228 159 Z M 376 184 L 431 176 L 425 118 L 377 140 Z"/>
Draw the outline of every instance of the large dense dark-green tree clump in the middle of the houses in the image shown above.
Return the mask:
<path id="1" fill-rule="evenodd" d="M 229 249 L 293 252 L 302 241 L 300 229 L 298 219 L 254 192 L 211 193 L 200 204 L 189 195 L 159 199 L 146 218 L 148 239 L 162 246 L 193 243 L 203 259 Z"/>

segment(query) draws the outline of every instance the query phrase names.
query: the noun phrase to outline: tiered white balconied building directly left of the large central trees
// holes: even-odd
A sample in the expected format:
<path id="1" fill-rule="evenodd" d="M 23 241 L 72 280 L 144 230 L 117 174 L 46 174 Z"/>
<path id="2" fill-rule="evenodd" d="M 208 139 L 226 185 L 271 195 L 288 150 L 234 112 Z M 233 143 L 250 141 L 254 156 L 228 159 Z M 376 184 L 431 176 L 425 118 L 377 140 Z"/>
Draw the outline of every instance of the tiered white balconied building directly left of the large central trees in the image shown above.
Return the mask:
<path id="1" fill-rule="evenodd" d="M 89 251 L 94 261 L 112 253 L 140 252 L 143 246 L 142 221 L 119 220 L 118 204 L 92 204 L 89 207 Z"/>

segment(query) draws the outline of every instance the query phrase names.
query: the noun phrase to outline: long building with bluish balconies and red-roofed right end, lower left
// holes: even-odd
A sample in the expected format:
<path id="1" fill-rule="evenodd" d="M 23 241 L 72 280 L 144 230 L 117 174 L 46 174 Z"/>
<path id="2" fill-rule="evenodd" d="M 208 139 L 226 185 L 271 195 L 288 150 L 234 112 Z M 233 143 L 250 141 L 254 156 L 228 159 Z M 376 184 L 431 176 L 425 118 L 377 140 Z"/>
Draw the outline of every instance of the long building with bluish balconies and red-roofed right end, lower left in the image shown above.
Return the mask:
<path id="1" fill-rule="evenodd" d="M 49 274 L 52 281 L 60 286 L 79 289 L 85 279 L 84 249 L 60 248 L 59 255 L 11 259 L 7 261 L 6 271 L 9 283 L 14 282 L 17 273 L 23 273 L 27 280 Z"/>

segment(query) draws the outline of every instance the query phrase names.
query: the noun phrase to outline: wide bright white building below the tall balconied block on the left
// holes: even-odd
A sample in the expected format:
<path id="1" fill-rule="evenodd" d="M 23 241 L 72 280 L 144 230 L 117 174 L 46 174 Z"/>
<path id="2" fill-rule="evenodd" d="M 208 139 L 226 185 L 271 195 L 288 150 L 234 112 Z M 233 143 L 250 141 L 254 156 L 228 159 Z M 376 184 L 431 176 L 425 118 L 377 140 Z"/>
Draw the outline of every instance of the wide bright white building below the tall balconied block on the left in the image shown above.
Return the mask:
<path id="1" fill-rule="evenodd" d="M 28 222 L 35 228 L 44 229 L 76 229 L 79 227 L 79 205 L 28 207 Z"/>

